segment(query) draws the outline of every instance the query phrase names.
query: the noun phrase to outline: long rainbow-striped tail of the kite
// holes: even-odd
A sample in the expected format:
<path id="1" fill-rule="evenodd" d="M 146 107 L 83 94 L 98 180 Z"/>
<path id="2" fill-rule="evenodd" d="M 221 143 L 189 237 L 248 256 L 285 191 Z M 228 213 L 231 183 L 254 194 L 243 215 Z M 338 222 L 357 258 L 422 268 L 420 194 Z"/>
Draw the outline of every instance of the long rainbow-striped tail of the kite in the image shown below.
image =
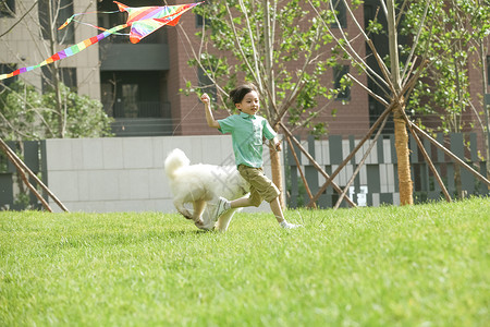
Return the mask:
<path id="1" fill-rule="evenodd" d="M 107 29 L 107 31 L 100 33 L 97 36 L 87 38 L 86 40 L 83 40 L 83 41 L 81 41 L 81 43 L 78 43 L 78 44 L 76 44 L 74 46 L 71 46 L 70 48 L 61 50 L 61 51 L 57 52 L 56 55 L 49 57 L 48 59 L 46 59 L 45 61 L 42 61 L 39 64 L 22 68 L 22 69 L 19 69 L 16 71 L 12 72 L 12 73 L 9 73 L 9 74 L 0 74 L 0 81 L 1 80 L 5 80 L 5 78 L 10 78 L 10 77 L 13 77 L 13 76 L 16 76 L 16 75 L 25 73 L 25 72 L 29 72 L 32 70 L 35 70 L 35 69 L 40 68 L 42 65 L 47 65 L 47 64 L 52 63 L 54 61 L 58 61 L 60 59 L 64 59 L 64 58 L 71 57 L 73 55 L 76 55 L 79 51 L 85 50 L 89 46 L 95 45 L 99 40 L 108 37 L 111 34 L 114 34 L 115 32 L 118 32 L 120 29 L 123 29 L 125 27 L 127 27 L 127 24 L 118 25 L 115 27 L 112 27 L 110 29 Z"/>

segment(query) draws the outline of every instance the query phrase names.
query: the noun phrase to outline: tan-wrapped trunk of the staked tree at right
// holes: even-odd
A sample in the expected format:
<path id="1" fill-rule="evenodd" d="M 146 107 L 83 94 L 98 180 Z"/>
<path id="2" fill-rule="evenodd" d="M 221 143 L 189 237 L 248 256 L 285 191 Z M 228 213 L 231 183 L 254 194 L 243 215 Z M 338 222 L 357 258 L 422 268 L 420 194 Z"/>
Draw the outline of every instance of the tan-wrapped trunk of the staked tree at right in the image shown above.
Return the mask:
<path id="1" fill-rule="evenodd" d="M 406 130 L 406 122 L 402 117 L 401 110 L 403 107 L 395 108 L 393 112 L 394 132 L 395 132 L 395 148 L 399 165 L 399 190 L 400 204 L 414 204 L 413 183 L 411 175 L 411 156 L 408 148 L 408 133 Z"/>

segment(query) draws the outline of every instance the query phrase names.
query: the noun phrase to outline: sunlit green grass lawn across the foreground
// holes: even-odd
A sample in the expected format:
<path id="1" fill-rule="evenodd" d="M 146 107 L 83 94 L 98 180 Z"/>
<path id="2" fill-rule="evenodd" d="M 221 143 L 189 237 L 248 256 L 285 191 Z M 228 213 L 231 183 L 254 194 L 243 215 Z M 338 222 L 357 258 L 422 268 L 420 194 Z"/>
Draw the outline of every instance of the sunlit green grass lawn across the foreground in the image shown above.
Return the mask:
<path id="1" fill-rule="evenodd" d="M 488 326 L 490 199 L 240 214 L 0 213 L 0 326 Z"/>

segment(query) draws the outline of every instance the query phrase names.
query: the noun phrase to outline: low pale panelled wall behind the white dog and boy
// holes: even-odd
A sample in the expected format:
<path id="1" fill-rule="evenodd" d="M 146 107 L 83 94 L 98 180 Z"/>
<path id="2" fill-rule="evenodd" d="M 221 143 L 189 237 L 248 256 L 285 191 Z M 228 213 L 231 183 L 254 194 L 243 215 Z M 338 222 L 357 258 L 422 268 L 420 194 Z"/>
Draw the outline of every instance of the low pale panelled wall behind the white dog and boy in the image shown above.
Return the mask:
<path id="1" fill-rule="evenodd" d="M 47 140 L 48 186 L 70 211 L 174 213 L 163 162 L 176 147 L 192 164 L 234 165 L 230 135 Z M 264 154 L 270 178 L 267 147 Z"/>

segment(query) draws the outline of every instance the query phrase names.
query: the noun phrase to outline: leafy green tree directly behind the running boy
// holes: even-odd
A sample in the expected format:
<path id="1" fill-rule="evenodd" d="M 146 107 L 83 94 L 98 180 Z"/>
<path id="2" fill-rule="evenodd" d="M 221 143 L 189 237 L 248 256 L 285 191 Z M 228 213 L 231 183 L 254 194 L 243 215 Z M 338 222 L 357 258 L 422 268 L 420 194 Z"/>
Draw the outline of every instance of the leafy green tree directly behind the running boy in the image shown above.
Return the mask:
<path id="1" fill-rule="evenodd" d="M 324 46 L 332 38 L 322 33 L 311 10 L 298 0 L 228 0 L 200 5 L 196 12 L 205 24 L 191 64 L 204 72 L 209 84 L 188 84 L 189 88 L 216 86 L 219 108 L 233 108 L 226 90 L 245 78 L 257 85 L 265 117 L 273 128 L 279 129 L 287 114 L 290 125 L 324 133 L 326 123 L 315 120 L 326 108 L 318 108 L 318 100 L 333 99 L 339 89 L 324 86 L 327 69 L 334 64 Z M 272 179 L 282 190 L 279 156 L 271 149 L 270 157 Z"/>

